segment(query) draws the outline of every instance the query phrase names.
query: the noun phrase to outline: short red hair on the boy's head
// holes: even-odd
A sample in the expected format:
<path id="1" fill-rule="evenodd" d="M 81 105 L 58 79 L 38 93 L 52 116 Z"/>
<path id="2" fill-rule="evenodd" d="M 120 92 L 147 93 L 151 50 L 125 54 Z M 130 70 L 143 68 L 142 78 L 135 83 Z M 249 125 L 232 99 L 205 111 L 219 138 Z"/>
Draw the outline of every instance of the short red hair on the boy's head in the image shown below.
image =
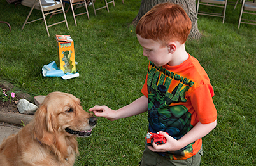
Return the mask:
<path id="1" fill-rule="evenodd" d="M 185 43 L 191 30 L 191 20 L 178 4 L 160 3 L 155 5 L 139 20 L 136 34 L 145 39 L 166 43 Z"/>

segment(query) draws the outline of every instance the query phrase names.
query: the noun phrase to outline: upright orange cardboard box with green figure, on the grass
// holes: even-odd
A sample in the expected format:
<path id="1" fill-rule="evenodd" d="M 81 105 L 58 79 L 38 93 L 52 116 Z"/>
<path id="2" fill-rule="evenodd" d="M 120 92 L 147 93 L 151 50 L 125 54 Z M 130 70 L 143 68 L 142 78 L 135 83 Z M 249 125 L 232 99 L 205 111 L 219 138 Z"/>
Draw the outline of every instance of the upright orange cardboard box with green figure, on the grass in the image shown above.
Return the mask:
<path id="1" fill-rule="evenodd" d="M 64 73 L 76 73 L 74 42 L 70 35 L 56 35 L 60 69 Z"/>

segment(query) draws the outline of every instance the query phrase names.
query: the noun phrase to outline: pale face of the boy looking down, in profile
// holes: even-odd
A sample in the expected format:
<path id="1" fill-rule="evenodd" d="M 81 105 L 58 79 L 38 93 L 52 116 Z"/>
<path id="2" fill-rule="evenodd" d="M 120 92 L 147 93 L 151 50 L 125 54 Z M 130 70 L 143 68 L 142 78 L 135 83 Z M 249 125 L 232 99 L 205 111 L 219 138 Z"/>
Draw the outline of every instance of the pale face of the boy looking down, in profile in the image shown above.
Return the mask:
<path id="1" fill-rule="evenodd" d="M 142 38 L 137 34 L 139 44 L 143 47 L 143 55 L 152 61 L 157 67 L 166 65 L 171 61 L 171 54 L 167 46 L 162 46 L 160 42 L 152 39 Z"/>

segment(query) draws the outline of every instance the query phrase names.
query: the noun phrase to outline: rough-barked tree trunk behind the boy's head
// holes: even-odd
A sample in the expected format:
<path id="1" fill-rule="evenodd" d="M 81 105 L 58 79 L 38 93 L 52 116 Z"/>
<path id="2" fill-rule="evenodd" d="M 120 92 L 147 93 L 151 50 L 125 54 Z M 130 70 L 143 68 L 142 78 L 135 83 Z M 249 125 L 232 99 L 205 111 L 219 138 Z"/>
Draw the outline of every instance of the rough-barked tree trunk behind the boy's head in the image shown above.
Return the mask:
<path id="1" fill-rule="evenodd" d="M 136 26 L 139 22 L 139 19 L 141 19 L 141 17 L 145 15 L 146 12 L 153 8 L 153 6 L 159 3 L 166 2 L 180 4 L 184 8 L 192 22 L 192 28 L 188 39 L 199 39 L 201 37 L 201 34 L 197 28 L 196 1 L 194 0 L 141 0 L 139 13 L 132 21 L 132 25 Z"/>

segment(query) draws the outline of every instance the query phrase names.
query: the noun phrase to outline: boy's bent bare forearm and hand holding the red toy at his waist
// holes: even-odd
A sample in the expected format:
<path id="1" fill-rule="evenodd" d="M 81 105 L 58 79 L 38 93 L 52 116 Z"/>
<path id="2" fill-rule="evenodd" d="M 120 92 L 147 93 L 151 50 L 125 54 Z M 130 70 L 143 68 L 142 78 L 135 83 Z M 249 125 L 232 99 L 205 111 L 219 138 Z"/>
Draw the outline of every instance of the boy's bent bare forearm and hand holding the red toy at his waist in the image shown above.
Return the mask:
<path id="1" fill-rule="evenodd" d="M 153 143 L 152 146 L 148 148 L 152 151 L 165 152 L 165 151 L 177 151 L 181 148 L 193 143 L 197 139 L 206 136 L 210 131 L 212 131 L 217 125 L 217 120 L 211 122 L 210 124 L 202 124 L 198 122 L 187 134 L 185 134 L 181 139 L 176 140 L 173 137 L 166 134 L 166 132 L 161 132 L 166 137 L 166 143 L 162 145 L 157 145 Z"/>

